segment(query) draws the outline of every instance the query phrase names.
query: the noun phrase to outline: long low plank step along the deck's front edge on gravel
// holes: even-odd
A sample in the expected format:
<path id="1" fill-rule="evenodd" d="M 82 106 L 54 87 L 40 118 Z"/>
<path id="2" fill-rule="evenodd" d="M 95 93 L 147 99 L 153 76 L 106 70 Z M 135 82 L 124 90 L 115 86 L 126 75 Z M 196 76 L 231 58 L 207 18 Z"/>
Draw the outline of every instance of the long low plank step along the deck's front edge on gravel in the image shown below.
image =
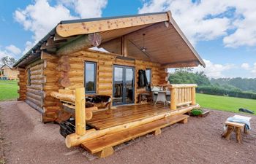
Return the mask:
<path id="1" fill-rule="evenodd" d="M 147 133 L 154 133 L 154 135 L 157 136 L 161 133 L 161 128 L 175 124 L 176 122 L 187 123 L 188 117 L 189 116 L 184 114 L 165 117 L 164 119 L 150 122 L 145 125 L 140 125 L 129 130 L 123 130 L 117 133 L 95 138 L 93 140 L 86 141 L 81 145 L 84 149 L 88 150 L 92 154 L 96 154 L 99 157 L 108 157 L 109 155 L 113 154 L 114 146 L 139 136 L 146 135 Z"/>

